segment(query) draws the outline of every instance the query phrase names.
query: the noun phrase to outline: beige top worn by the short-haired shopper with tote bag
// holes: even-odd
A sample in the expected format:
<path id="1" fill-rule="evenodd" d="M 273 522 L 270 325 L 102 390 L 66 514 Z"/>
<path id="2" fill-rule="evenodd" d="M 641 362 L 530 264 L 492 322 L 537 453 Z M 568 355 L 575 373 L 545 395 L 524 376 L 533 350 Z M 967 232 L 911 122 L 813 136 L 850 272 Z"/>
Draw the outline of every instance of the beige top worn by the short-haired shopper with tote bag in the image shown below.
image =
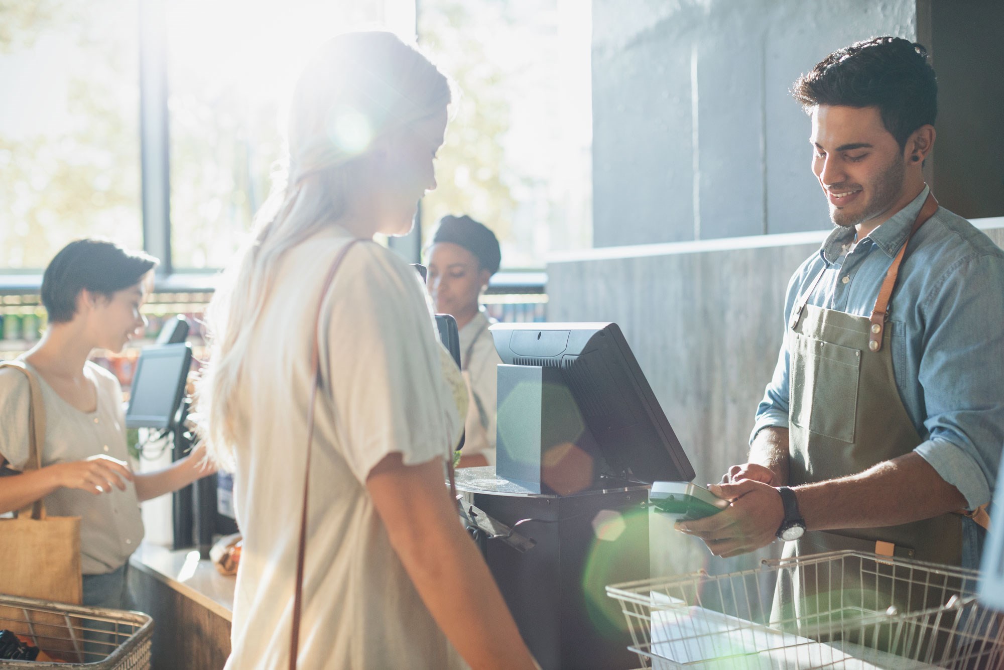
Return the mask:
<path id="1" fill-rule="evenodd" d="M 46 383 L 31 364 L 45 405 L 42 467 L 105 454 L 129 461 L 122 392 L 114 375 L 88 362 L 84 375 L 97 390 L 97 409 L 81 412 Z M 0 454 L 15 470 L 28 460 L 28 403 L 31 391 L 24 373 L 0 369 Z M 143 539 L 140 500 L 133 482 L 126 490 L 95 495 L 78 488 L 57 488 L 43 499 L 50 516 L 80 517 L 80 570 L 104 575 L 121 567 Z"/>

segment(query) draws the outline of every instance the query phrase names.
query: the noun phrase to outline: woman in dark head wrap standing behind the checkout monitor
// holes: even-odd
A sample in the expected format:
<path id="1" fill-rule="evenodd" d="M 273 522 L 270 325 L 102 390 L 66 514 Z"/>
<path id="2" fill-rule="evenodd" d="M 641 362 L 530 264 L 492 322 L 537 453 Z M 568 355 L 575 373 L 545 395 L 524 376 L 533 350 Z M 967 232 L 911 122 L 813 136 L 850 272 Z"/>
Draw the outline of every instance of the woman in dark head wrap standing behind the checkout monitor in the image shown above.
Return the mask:
<path id="1" fill-rule="evenodd" d="M 459 467 L 495 464 L 498 365 L 502 363 L 480 307 L 481 292 L 498 271 L 502 254 L 495 234 L 469 216 L 445 216 L 428 250 L 429 292 L 438 313 L 451 314 L 460 330 L 460 366 L 468 388 L 466 437 Z"/>

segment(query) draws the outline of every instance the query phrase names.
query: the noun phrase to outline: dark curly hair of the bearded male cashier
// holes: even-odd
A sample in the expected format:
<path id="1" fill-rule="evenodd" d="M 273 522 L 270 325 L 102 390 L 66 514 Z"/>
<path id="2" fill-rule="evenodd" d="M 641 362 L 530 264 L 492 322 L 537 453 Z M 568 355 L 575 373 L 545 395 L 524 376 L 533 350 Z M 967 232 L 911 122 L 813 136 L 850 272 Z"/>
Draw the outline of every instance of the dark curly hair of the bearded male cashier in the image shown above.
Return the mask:
<path id="1" fill-rule="evenodd" d="M 902 37 L 872 37 L 837 49 L 791 86 L 806 113 L 819 104 L 878 107 L 900 143 L 938 116 L 938 81 L 928 51 Z"/>

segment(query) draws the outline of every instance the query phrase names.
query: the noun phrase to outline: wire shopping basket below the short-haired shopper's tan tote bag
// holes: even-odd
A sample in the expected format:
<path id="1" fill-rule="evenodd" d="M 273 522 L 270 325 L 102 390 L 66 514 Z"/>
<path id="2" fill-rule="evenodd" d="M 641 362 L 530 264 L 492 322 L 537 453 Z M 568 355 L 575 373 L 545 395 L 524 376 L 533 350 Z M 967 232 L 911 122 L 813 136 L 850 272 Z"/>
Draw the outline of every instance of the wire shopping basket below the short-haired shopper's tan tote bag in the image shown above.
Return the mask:
<path id="1" fill-rule="evenodd" d="M 150 670 L 154 620 L 140 612 L 0 595 L 0 630 L 52 659 L 0 660 L 0 668 Z"/>

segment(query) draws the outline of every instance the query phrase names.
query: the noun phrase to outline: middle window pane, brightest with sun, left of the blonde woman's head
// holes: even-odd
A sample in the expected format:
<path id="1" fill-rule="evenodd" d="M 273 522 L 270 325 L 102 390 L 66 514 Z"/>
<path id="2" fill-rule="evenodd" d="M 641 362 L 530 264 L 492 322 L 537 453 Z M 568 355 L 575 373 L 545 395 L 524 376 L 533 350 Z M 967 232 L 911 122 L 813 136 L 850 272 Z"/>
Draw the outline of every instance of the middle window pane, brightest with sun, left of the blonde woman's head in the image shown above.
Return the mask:
<path id="1" fill-rule="evenodd" d="M 414 0 L 166 3 L 171 238 L 180 269 L 220 268 L 268 196 L 281 105 L 313 49 L 346 30 L 414 39 Z"/>

